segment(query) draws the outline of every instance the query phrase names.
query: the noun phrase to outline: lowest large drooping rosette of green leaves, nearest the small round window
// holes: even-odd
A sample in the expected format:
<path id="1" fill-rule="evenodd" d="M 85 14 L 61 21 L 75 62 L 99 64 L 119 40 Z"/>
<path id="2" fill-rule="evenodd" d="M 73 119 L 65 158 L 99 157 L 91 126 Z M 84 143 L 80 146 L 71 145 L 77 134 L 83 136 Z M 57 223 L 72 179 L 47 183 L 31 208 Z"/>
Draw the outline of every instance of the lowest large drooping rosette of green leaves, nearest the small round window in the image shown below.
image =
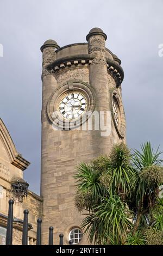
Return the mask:
<path id="1" fill-rule="evenodd" d="M 88 233 L 90 242 L 121 245 L 127 237 L 127 231 L 132 227 L 126 211 L 126 204 L 118 196 L 103 198 L 95 206 L 93 213 L 83 221 L 83 228 Z"/>

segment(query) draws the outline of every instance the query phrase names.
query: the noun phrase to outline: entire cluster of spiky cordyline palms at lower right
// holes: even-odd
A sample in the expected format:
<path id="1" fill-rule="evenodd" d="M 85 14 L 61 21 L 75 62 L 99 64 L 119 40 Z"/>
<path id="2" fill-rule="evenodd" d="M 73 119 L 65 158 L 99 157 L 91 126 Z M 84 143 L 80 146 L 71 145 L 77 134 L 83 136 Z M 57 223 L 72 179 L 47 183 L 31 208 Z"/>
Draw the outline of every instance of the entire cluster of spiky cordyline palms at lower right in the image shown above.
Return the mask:
<path id="1" fill-rule="evenodd" d="M 82 227 L 91 243 L 143 245 L 151 244 L 150 234 L 156 236 L 156 229 L 158 237 L 163 234 L 156 199 L 162 179 L 161 152 L 154 152 L 150 143 L 141 149 L 131 155 L 126 144 L 116 144 L 109 156 L 79 164 L 75 204 L 80 212 L 88 211 Z M 153 213 L 156 205 L 159 211 Z"/>

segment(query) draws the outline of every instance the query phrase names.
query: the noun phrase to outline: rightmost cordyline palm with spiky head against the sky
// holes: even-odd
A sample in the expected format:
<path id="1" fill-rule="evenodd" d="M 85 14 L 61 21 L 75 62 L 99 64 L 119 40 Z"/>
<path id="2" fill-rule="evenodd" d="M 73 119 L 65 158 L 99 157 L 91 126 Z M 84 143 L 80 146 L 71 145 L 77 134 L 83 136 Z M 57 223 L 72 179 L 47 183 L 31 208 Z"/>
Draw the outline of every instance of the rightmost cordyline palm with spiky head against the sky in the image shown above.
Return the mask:
<path id="1" fill-rule="evenodd" d="M 133 234 L 143 222 L 147 225 L 150 223 L 151 212 L 156 205 L 162 182 L 163 160 L 159 159 L 161 153 L 158 149 L 154 151 L 149 142 L 141 146 L 141 152 L 135 150 L 133 164 L 137 171 L 137 179 L 130 204 L 130 209 L 135 213 Z"/>

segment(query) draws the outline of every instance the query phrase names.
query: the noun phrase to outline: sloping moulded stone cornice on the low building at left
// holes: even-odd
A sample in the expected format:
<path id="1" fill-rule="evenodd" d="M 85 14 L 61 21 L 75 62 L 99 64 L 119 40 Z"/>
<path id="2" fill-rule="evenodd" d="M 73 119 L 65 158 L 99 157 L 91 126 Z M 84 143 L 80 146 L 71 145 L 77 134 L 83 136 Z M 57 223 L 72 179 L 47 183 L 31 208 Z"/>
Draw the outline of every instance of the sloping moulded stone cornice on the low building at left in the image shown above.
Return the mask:
<path id="1" fill-rule="evenodd" d="M 20 153 L 17 152 L 14 142 L 12 141 L 11 136 L 7 130 L 7 127 L 5 127 L 1 118 L 0 139 L 3 142 L 5 149 L 7 150 L 11 164 L 21 170 L 27 169 L 30 163 L 26 159 L 24 159 Z"/>

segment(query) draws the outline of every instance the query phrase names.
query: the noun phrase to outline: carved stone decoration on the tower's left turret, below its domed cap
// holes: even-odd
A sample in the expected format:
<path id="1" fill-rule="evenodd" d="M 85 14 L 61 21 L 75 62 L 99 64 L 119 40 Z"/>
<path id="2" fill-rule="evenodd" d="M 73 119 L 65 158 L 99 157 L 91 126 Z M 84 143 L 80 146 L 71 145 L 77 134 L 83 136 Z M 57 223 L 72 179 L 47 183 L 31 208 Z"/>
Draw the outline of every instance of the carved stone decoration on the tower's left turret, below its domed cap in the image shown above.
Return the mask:
<path id="1" fill-rule="evenodd" d="M 47 66 L 55 60 L 55 50 L 54 47 L 46 47 L 43 49 L 42 54 L 42 76 L 49 75 Z"/>

